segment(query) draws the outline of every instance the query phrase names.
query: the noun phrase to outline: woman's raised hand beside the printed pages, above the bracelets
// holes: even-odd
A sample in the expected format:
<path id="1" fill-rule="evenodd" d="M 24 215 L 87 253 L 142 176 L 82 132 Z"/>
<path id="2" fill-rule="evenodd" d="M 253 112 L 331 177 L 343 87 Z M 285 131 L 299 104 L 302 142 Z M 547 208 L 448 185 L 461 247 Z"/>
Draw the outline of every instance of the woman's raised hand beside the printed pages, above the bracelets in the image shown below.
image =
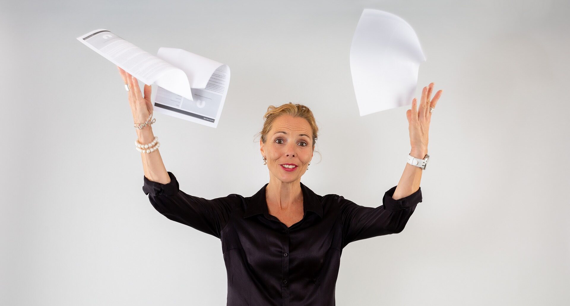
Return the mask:
<path id="1" fill-rule="evenodd" d="M 141 89 L 139 87 L 139 80 L 136 77 L 133 77 L 130 73 L 119 68 L 119 73 L 121 77 L 123 77 L 123 81 L 125 84 L 130 85 L 129 90 L 129 105 L 131 105 L 131 110 L 133 111 L 133 120 L 136 124 L 145 123 L 150 114 L 152 113 L 152 102 L 150 101 L 150 92 L 152 90 L 152 86 L 144 85 L 144 97 L 141 94 Z"/>

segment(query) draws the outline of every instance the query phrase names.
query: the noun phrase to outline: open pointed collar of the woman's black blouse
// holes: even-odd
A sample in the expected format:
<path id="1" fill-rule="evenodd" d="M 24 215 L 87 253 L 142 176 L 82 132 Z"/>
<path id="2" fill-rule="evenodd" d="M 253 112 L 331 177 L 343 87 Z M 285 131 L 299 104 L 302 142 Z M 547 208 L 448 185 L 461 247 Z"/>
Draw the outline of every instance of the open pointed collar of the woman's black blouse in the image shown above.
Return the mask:
<path id="1" fill-rule="evenodd" d="M 243 213 L 243 218 L 253 216 L 254 214 L 266 213 L 269 214 L 269 209 L 267 208 L 267 201 L 265 200 L 265 188 L 269 183 L 265 184 L 255 195 L 246 198 L 247 208 L 245 213 Z M 303 213 L 307 210 L 315 212 L 319 217 L 323 218 L 323 205 L 311 189 L 301 184 L 301 191 L 303 191 Z"/>

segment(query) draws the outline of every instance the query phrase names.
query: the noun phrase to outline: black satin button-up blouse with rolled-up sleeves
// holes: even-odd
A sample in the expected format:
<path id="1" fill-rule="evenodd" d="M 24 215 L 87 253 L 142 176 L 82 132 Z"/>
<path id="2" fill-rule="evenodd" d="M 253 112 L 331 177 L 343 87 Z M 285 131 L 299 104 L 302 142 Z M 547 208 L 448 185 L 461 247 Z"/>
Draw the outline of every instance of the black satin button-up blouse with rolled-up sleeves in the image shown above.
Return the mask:
<path id="1" fill-rule="evenodd" d="M 339 195 L 319 196 L 303 183 L 303 219 L 287 228 L 268 212 L 265 184 L 255 195 L 231 194 L 206 200 L 170 183 L 144 176 L 143 191 L 154 208 L 221 239 L 227 270 L 227 306 L 331 306 L 343 248 L 353 241 L 400 233 L 418 202 L 421 188 L 382 205 L 360 206 Z"/>

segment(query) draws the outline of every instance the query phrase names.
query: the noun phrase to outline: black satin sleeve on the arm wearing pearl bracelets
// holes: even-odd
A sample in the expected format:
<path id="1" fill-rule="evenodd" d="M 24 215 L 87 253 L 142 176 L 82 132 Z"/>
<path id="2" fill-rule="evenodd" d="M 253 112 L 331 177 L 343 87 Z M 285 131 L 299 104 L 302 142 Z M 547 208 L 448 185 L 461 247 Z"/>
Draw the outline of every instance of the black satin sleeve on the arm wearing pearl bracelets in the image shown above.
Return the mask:
<path id="1" fill-rule="evenodd" d="M 220 238 L 231 210 L 239 200 L 238 195 L 231 194 L 212 200 L 191 196 L 180 190 L 172 172 L 168 172 L 168 175 L 168 184 L 151 181 L 143 176 L 143 191 L 154 209 L 172 221 Z"/>

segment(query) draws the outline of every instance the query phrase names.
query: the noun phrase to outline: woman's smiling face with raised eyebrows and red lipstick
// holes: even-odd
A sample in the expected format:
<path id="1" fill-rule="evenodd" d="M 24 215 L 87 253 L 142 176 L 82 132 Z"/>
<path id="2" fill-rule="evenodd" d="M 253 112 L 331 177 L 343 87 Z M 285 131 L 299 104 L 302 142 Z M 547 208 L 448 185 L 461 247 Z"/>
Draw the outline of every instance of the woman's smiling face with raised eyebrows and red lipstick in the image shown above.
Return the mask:
<path id="1" fill-rule="evenodd" d="M 282 133 L 284 132 L 284 133 Z M 267 159 L 271 179 L 292 183 L 301 179 L 313 158 L 312 131 L 306 119 L 291 115 L 275 118 L 266 142 L 259 140 L 260 150 Z M 283 164 L 294 164 L 285 168 Z"/>

